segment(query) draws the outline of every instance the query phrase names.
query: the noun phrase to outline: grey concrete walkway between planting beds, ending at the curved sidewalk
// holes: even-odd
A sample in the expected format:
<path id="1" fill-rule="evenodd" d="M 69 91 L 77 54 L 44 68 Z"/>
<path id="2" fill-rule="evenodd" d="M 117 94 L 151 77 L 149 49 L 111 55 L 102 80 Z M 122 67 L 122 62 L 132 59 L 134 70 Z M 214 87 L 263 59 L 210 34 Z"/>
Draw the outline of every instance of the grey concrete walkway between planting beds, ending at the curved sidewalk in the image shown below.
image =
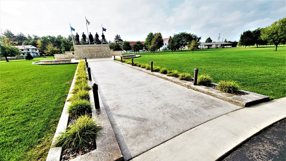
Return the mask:
<path id="1" fill-rule="evenodd" d="M 125 160 L 242 108 L 119 63 L 88 62 Z"/>

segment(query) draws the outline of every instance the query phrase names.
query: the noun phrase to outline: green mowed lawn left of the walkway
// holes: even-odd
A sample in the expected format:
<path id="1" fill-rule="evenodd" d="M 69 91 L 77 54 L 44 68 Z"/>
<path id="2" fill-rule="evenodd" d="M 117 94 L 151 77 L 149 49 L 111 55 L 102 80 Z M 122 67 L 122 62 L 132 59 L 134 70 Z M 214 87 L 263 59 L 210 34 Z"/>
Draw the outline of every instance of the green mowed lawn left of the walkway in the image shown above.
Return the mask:
<path id="1" fill-rule="evenodd" d="M 0 160 L 45 160 L 77 64 L 0 61 Z"/>

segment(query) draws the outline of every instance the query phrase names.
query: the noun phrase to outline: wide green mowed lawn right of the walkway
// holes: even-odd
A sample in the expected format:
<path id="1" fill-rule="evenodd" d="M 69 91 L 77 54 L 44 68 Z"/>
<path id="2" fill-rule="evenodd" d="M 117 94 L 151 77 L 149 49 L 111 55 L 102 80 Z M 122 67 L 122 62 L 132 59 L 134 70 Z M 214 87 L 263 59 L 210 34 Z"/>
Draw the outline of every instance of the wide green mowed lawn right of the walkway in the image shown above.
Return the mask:
<path id="1" fill-rule="evenodd" d="M 242 90 L 282 98 L 286 96 L 286 45 L 233 47 L 225 49 L 199 49 L 137 53 L 134 61 L 177 69 L 194 75 L 206 73 L 219 80 L 237 81 Z M 129 53 L 128 53 L 129 54 Z"/>

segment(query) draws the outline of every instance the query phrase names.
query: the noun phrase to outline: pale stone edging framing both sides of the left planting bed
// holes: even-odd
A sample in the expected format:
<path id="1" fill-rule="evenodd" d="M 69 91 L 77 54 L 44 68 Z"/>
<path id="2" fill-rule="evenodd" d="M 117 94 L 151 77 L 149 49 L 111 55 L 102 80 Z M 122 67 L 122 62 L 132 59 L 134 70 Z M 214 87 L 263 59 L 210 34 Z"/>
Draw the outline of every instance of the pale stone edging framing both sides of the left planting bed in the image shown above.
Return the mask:
<path id="1" fill-rule="evenodd" d="M 72 97 L 72 89 L 74 88 L 76 75 L 74 75 L 74 79 L 72 82 L 72 86 L 69 90 L 69 94 L 67 96 L 68 100 L 70 97 Z M 88 81 L 88 84 L 92 86 L 94 84 L 94 79 L 92 77 L 91 81 Z M 100 94 L 98 92 L 99 96 L 99 103 L 100 103 L 100 109 L 96 110 L 95 103 L 94 103 L 94 95 L 93 91 L 89 91 L 90 94 L 90 103 L 92 103 L 92 117 L 94 120 L 98 120 L 98 122 L 101 123 L 101 126 L 103 127 L 102 130 L 100 130 L 100 133 L 96 135 L 96 149 L 88 152 L 84 155 L 77 156 L 76 158 L 72 159 L 73 161 L 82 161 L 82 160 L 123 160 L 123 155 L 121 153 L 120 147 L 118 145 L 118 142 L 116 140 L 114 131 L 112 129 L 111 123 L 109 121 L 109 118 L 107 116 L 104 104 L 101 100 Z M 64 109 L 61 114 L 61 118 L 59 120 L 59 124 L 57 126 L 57 130 L 55 132 L 55 136 L 53 138 L 53 143 L 55 141 L 55 138 L 59 135 L 59 132 L 65 131 L 65 128 L 67 127 L 69 114 L 67 114 L 67 106 L 70 105 L 70 102 L 66 101 Z M 60 161 L 61 158 L 61 147 L 54 147 L 50 148 L 49 154 L 47 156 L 46 161 Z"/>

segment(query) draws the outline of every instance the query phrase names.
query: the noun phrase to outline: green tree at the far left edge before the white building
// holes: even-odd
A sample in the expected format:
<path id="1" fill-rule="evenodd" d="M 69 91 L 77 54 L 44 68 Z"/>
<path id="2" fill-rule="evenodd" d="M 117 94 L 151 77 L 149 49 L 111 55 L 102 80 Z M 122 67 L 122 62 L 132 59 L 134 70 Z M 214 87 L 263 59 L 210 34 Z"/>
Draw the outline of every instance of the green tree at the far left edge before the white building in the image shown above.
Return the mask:
<path id="1" fill-rule="evenodd" d="M 15 47 L 14 44 L 15 41 L 13 41 L 11 38 L 1 36 L 0 56 L 5 57 L 7 62 L 9 62 L 7 57 L 13 57 L 21 54 L 19 48 Z"/>

